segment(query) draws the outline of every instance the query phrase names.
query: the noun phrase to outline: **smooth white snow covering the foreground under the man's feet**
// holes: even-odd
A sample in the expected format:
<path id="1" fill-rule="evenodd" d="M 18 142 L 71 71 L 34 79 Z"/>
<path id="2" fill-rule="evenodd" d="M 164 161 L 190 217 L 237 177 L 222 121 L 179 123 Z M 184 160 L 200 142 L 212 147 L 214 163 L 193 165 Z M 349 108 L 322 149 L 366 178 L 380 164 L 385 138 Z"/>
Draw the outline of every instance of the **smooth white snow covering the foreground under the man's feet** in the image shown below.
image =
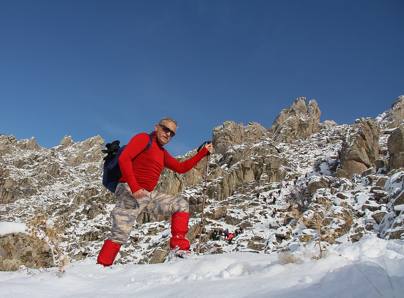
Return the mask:
<path id="1" fill-rule="evenodd" d="M 364 235 L 312 258 L 229 252 L 162 264 L 102 267 L 92 258 L 57 271 L 0 272 L 1 297 L 403 297 L 404 241 Z"/>

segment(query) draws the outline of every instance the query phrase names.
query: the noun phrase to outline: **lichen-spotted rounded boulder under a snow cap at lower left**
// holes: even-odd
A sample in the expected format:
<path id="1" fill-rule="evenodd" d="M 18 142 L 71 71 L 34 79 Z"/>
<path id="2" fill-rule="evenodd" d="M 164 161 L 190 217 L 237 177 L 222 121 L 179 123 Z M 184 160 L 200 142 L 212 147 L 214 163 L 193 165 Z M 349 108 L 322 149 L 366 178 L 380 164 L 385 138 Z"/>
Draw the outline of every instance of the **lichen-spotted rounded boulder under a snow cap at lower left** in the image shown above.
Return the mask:
<path id="1" fill-rule="evenodd" d="M 0 271 L 53 267 L 53 254 L 48 244 L 32 235 L 12 233 L 0 237 Z"/>

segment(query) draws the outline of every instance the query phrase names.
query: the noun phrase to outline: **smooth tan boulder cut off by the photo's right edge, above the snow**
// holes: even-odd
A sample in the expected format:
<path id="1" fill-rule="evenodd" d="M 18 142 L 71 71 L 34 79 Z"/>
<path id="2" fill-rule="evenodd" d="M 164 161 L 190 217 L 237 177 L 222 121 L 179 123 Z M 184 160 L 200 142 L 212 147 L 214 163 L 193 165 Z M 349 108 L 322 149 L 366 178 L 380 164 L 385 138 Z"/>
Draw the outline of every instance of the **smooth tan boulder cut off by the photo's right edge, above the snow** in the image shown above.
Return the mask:
<path id="1" fill-rule="evenodd" d="M 404 167 L 404 125 L 396 128 L 387 140 L 389 150 L 388 170 Z"/>

